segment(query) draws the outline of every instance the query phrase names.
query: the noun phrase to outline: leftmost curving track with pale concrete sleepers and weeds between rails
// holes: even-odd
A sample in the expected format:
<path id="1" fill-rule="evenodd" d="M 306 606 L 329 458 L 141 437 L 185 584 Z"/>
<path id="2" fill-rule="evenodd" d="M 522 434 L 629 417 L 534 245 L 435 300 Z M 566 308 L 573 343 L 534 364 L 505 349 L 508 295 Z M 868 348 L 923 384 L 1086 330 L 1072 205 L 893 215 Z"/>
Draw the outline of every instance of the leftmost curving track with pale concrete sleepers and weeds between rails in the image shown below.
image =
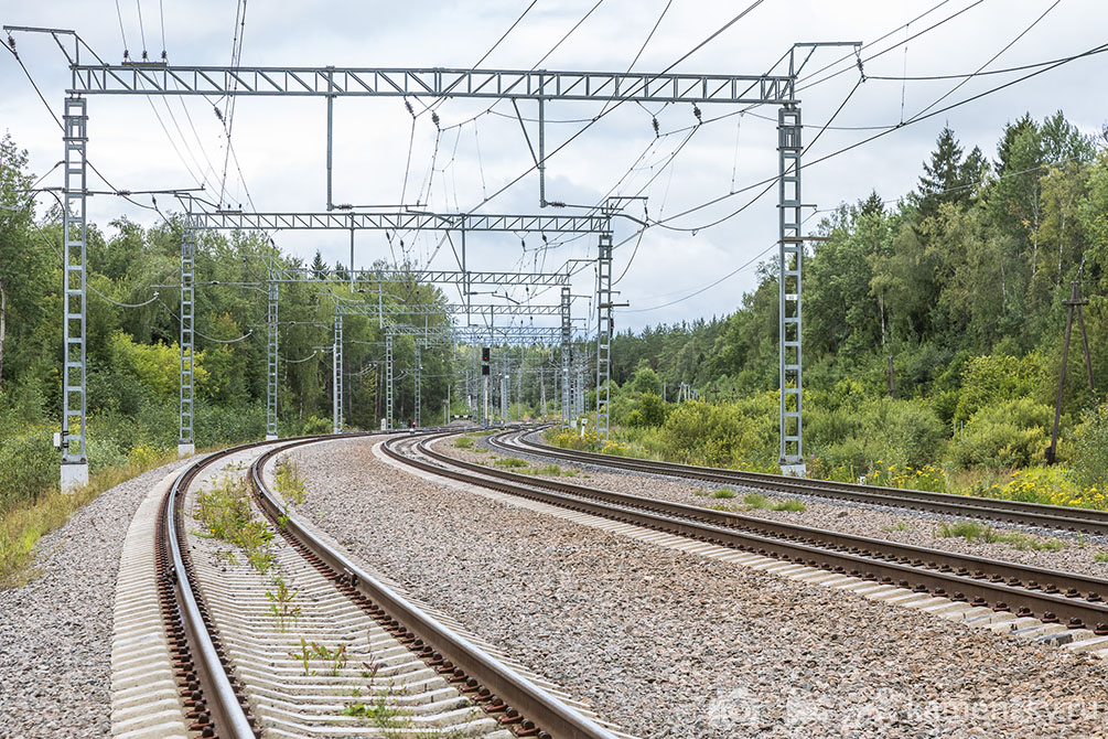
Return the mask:
<path id="1" fill-rule="evenodd" d="M 299 521 L 270 489 L 267 464 L 328 439 L 205 456 L 156 501 L 157 525 L 146 542 L 155 548 L 153 577 L 143 581 L 156 583 L 155 617 L 140 613 L 145 595 L 130 595 L 137 581 L 117 591 L 125 595 L 123 618 L 117 595 L 117 620 L 134 630 L 117 626 L 113 645 L 115 736 L 627 736 Z M 248 561 L 186 526 L 197 489 L 212 484 L 220 463 L 229 463 L 229 476 L 217 485 L 242 484 L 250 525 L 268 532 Z M 249 492 L 234 482 L 244 470 Z M 132 523 L 127 544 L 140 524 Z M 133 561 L 145 562 L 145 553 L 132 550 L 125 545 L 124 574 L 135 569 Z M 175 714 L 184 721 L 170 720 Z"/>

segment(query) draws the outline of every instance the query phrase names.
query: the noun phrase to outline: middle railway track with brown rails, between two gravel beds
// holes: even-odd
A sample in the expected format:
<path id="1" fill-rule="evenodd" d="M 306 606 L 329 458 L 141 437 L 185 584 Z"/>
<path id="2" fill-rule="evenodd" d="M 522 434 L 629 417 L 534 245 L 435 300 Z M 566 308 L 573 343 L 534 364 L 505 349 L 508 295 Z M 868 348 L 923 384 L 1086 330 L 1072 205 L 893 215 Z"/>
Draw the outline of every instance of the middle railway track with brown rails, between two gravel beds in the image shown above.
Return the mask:
<path id="1" fill-rule="evenodd" d="M 1003 622 L 1026 636 L 1108 649 L 1108 581 L 1101 578 L 513 473 L 431 448 L 445 435 L 391 439 L 382 449 L 406 464 L 501 493 L 777 560 L 782 572 L 856 578 L 869 583 L 862 591 L 890 602 L 941 598 L 936 606 L 966 623 Z"/>

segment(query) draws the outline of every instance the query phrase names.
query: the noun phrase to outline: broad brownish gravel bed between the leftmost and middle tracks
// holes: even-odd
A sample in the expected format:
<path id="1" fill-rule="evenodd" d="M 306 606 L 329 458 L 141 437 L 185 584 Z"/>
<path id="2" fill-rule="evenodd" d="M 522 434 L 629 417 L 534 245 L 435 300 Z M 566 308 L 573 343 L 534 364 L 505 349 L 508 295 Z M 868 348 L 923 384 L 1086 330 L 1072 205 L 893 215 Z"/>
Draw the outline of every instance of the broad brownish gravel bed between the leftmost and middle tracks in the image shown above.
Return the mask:
<path id="1" fill-rule="evenodd" d="M 1105 736 L 1108 666 L 428 482 L 294 452 L 369 566 L 644 737 Z"/>

